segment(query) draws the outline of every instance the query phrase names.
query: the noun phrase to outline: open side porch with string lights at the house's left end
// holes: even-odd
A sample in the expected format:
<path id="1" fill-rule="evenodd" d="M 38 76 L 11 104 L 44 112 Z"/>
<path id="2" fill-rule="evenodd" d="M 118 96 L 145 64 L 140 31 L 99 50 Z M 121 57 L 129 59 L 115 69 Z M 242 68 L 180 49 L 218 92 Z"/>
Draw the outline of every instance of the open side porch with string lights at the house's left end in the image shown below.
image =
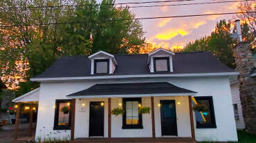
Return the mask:
<path id="1" fill-rule="evenodd" d="M 33 116 L 37 111 L 38 101 L 39 101 L 39 88 L 34 89 L 33 91 L 30 91 L 27 94 L 24 94 L 12 100 L 12 102 L 16 102 L 15 104 L 16 121 L 15 121 L 15 129 L 12 135 L 13 137 L 12 142 L 27 142 L 29 140 L 35 140 L 35 124 L 36 123 L 33 124 L 33 118 L 34 118 Z M 19 119 L 22 111 L 28 111 L 29 113 L 28 130 L 26 130 L 28 133 L 27 135 L 24 135 L 24 133 L 22 133 L 23 134 L 22 137 L 19 137 L 21 132 L 19 131 L 19 124 L 20 124 Z"/>

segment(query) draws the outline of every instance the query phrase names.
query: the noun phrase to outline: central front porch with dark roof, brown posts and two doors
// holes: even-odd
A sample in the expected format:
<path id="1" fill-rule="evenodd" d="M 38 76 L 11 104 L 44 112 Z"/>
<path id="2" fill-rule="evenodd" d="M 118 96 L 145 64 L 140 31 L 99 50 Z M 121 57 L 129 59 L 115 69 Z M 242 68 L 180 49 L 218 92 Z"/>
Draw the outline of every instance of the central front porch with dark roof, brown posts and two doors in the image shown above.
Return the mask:
<path id="1" fill-rule="evenodd" d="M 71 118 L 71 140 L 195 142 L 192 113 L 192 96 L 195 94 L 195 91 L 170 83 L 93 85 L 89 89 L 67 96 L 72 98 L 71 112 L 75 113 Z M 93 129 L 98 127 L 102 133 L 91 131 L 93 104 L 98 104 L 95 107 L 102 109 L 103 117 L 102 126 L 94 125 Z M 150 107 L 150 113 L 138 114 L 140 107 Z M 111 111 L 116 108 L 125 109 L 125 114 L 111 115 Z"/>

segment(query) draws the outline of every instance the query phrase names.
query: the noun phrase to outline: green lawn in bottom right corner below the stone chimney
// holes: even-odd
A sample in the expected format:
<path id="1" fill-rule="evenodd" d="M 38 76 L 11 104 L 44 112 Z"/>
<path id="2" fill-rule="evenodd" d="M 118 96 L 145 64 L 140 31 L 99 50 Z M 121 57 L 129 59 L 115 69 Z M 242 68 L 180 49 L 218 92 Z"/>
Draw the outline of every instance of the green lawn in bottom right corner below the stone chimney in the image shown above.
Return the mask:
<path id="1" fill-rule="evenodd" d="M 256 135 L 246 133 L 245 131 L 237 131 L 238 143 L 256 143 Z M 214 143 L 214 142 L 200 142 L 200 143 Z"/>

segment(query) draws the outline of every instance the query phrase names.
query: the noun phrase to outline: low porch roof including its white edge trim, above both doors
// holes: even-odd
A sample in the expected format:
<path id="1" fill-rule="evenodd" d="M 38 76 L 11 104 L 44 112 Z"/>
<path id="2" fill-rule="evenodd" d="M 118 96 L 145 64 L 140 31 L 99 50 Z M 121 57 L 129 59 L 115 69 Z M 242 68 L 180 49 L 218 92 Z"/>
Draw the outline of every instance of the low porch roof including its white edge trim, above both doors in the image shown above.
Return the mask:
<path id="1" fill-rule="evenodd" d="M 195 91 L 163 83 L 96 84 L 89 89 L 70 94 L 70 98 L 193 96 Z"/>

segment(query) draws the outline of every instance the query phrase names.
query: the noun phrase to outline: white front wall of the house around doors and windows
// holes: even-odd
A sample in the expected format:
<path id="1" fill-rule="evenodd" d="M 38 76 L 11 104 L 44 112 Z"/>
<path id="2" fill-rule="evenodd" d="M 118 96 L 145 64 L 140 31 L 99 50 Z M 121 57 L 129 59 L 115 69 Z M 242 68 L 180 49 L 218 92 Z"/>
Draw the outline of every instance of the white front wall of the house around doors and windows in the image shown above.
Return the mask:
<path id="1" fill-rule="evenodd" d="M 66 95 L 73 94 L 74 92 L 87 89 L 92 85 L 98 83 L 143 83 L 143 82 L 163 82 L 167 81 L 178 87 L 185 89 L 190 89 L 192 91 L 198 92 L 196 96 L 212 96 L 214 104 L 215 120 L 217 124 L 216 129 L 195 129 L 196 140 L 212 140 L 212 141 L 237 141 L 237 131 L 235 126 L 234 112 L 232 109 L 232 98 L 230 92 L 230 83 L 228 77 L 194 77 L 194 78 L 134 78 L 134 79 L 117 79 L 117 80 L 84 80 L 80 82 L 72 83 L 41 83 L 40 95 L 39 95 L 39 108 L 38 118 L 37 118 L 37 137 L 47 137 L 51 133 L 57 132 L 57 137 L 63 138 L 70 136 L 70 130 L 54 131 L 53 121 L 54 121 L 54 111 L 53 105 L 56 99 L 66 99 Z M 168 99 L 174 99 L 174 97 L 167 97 Z M 120 98 L 113 98 L 111 102 Z M 145 100 L 144 100 L 145 99 Z M 160 137 L 161 135 L 161 124 L 159 124 L 159 110 L 157 109 L 157 102 L 161 97 L 155 98 L 155 116 L 156 116 L 156 135 Z M 177 123 L 178 123 L 178 136 L 188 137 L 190 136 L 190 123 L 189 123 L 189 113 L 188 113 L 188 97 L 179 97 L 176 100 L 180 100 L 181 105 L 177 107 Z M 104 100 L 105 107 L 107 107 L 107 100 L 102 99 L 82 99 L 86 102 L 86 106 L 89 105 L 89 100 Z M 89 109 L 85 109 L 85 113 L 78 112 L 80 105 L 79 99 L 77 99 L 77 112 L 75 115 L 75 137 L 88 137 L 88 113 Z M 150 105 L 149 98 L 143 98 L 143 104 Z M 178 105 L 176 105 L 178 106 Z M 107 113 L 105 111 L 105 125 L 107 125 Z M 144 129 L 131 129 L 122 130 L 120 126 L 121 117 L 111 117 L 112 118 L 112 136 L 115 137 L 151 137 L 152 135 L 152 125 L 151 116 L 143 115 L 143 127 Z M 86 125 L 87 124 L 87 125 Z M 196 122 L 194 119 L 194 126 Z M 107 126 L 104 127 L 104 137 L 107 137 Z M 51 135 L 54 137 L 54 135 Z"/>

